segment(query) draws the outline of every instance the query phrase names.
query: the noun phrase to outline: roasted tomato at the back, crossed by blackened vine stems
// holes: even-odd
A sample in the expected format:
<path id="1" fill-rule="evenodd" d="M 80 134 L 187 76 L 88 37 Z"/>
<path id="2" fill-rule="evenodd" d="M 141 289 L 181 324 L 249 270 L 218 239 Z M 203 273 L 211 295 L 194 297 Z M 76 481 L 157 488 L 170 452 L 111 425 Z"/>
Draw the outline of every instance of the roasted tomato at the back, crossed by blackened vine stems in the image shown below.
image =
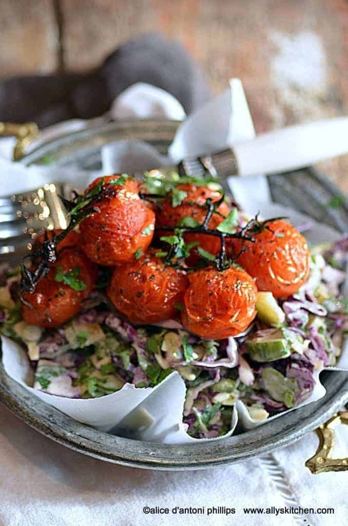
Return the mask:
<path id="1" fill-rule="evenodd" d="M 177 190 L 186 192 L 187 196 L 182 200 L 181 204 L 172 206 L 172 198 L 164 199 L 156 213 L 156 224 L 159 227 L 175 227 L 181 224 L 183 218 L 195 219 L 200 225 L 203 223 L 207 215 L 207 208 L 204 205 L 207 199 L 211 199 L 216 203 L 221 199 L 221 194 L 218 191 L 210 190 L 206 186 L 197 187 L 193 184 L 178 185 Z M 212 215 L 208 227 L 212 230 L 223 221 L 223 218 L 228 216 L 229 207 L 227 203 L 222 201 L 217 211 Z M 165 228 L 163 228 L 163 235 L 167 235 Z M 218 237 L 209 236 L 207 234 L 185 234 L 184 239 L 187 243 L 198 242 L 199 246 L 210 254 L 219 254 L 221 248 L 221 241 Z M 194 265 L 198 260 L 196 248 L 193 248 L 188 258 L 188 263 Z"/>

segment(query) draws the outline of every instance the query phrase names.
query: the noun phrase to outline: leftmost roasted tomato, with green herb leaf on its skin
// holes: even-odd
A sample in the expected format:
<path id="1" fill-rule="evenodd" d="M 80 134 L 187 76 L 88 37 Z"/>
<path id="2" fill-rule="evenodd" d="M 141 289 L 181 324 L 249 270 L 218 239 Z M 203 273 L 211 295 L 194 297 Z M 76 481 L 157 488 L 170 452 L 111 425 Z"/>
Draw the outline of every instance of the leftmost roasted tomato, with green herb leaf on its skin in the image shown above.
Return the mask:
<path id="1" fill-rule="evenodd" d="M 75 248 L 63 248 L 47 276 L 40 279 L 35 292 L 24 292 L 23 319 L 39 327 L 59 327 L 75 316 L 81 301 L 94 289 L 97 267 Z"/>

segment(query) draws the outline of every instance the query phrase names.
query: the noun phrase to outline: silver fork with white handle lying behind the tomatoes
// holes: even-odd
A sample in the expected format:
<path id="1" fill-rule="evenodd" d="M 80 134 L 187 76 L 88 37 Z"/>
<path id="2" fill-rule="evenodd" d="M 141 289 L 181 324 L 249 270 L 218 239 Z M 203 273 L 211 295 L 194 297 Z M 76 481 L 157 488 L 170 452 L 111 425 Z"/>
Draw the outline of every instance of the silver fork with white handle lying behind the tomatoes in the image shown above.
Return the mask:
<path id="1" fill-rule="evenodd" d="M 289 126 L 233 148 L 185 158 L 178 165 L 153 171 L 163 175 L 173 170 L 181 176 L 208 175 L 218 178 L 222 185 L 231 175 L 281 173 L 346 153 L 347 130 L 348 117 Z M 0 255 L 23 248 L 28 235 L 33 237 L 40 229 L 66 228 L 66 210 L 58 195 L 69 198 L 71 185 L 50 183 L 25 194 L 0 198 Z"/>

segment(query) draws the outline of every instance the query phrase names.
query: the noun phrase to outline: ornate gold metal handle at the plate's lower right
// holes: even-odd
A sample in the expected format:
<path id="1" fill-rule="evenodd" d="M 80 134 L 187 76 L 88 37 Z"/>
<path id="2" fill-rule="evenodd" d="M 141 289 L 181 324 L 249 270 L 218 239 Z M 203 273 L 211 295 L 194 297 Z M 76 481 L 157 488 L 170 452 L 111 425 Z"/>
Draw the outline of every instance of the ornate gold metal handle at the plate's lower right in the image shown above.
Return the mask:
<path id="1" fill-rule="evenodd" d="M 313 474 L 348 470 L 348 458 L 333 459 L 330 456 L 335 443 L 334 429 L 340 424 L 348 424 L 348 411 L 334 414 L 329 421 L 315 430 L 319 437 L 319 446 L 314 456 L 305 463 Z"/>

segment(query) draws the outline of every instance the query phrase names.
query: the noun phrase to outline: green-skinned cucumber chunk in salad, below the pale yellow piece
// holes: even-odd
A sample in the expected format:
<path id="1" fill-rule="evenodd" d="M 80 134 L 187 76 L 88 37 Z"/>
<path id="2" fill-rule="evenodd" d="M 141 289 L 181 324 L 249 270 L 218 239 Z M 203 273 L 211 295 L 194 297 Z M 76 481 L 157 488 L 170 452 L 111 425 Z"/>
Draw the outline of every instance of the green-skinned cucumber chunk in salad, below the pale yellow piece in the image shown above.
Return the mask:
<path id="1" fill-rule="evenodd" d="M 281 330 L 268 331 L 265 336 L 257 336 L 245 342 L 250 358 L 257 362 L 281 360 L 291 355 L 289 343 Z"/>

